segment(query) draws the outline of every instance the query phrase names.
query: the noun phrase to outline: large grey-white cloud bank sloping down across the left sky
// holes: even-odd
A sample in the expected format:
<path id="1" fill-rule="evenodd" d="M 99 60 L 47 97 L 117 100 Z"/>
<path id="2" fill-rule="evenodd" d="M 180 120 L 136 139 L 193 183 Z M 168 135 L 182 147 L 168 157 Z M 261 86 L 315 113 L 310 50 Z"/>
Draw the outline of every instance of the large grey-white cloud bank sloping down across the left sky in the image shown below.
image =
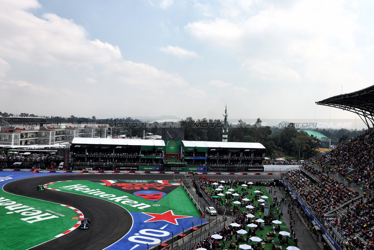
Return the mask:
<path id="1" fill-rule="evenodd" d="M 160 6 L 171 3 L 161 2 Z M 167 105 L 169 98 L 175 98 L 175 93 L 186 89 L 186 97 L 179 97 L 178 103 L 189 103 L 193 99 L 189 93 L 197 97 L 205 94 L 188 86 L 179 74 L 124 60 L 118 46 L 88 39 L 87 31 L 73 20 L 52 13 L 38 18 L 28 12 L 37 7 L 40 4 L 30 0 L 7 1 L 6 10 L 0 8 L 0 77 L 10 78 L 0 80 L 0 92 L 4 96 L 0 106 L 4 110 L 12 109 L 14 93 L 17 93 L 19 107 L 27 107 L 35 100 L 53 103 L 56 93 L 64 92 L 66 101 L 74 101 L 78 106 L 91 103 L 91 106 L 89 110 L 67 108 L 58 111 L 58 115 L 89 116 L 88 113 L 92 113 L 104 117 L 111 116 L 111 112 L 122 112 L 123 98 L 129 103 L 128 115 L 140 115 L 140 112 L 159 112 L 159 107 Z M 197 56 L 193 51 L 178 51 L 178 48 L 175 53 L 184 57 Z M 17 73 L 21 71 L 22 74 Z M 29 78 L 33 80 L 27 76 L 31 71 Z M 86 88 L 87 83 L 96 84 L 95 88 Z M 111 103 L 113 110 L 108 111 L 102 103 Z M 34 108 L 36 111 L 32 113 L 50 112 L 50 106 Z M 169 107 L 168 112 L 179 109 L 178 106 Z"/>

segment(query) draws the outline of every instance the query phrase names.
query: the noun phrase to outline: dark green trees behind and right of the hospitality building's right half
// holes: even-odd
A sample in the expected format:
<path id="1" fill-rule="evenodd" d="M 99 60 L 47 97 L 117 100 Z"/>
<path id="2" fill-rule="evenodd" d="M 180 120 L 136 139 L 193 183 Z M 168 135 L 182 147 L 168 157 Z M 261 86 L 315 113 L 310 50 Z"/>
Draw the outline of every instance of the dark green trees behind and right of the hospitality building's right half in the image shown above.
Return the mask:
<path id="1" fill-rule="evenodd" d="M 184 139 L 188 141 L 222 141 L 223 122 L 221 120 L 198 119 L 187 117 L 181 120 L 184 126 Z M 314 129 L 332 140 L 344 140 L 358 131 L 348 129 Z M 364 130 L 363 130 L 364 131 Z M 237 124 L 229 126 L 228 141 L 256 142 L 266 147 L 266 156 L 269 158 L 285 155 L 297 159 L 307 159 L 318 153 L 321 142 L 313 135 L 302 130 L 298 131 L 295 124 L 290 123 L 285 128 L 275 126 L 262 126 L 258 118 L 255 124 L 246 124 L 239 120 Z"/>

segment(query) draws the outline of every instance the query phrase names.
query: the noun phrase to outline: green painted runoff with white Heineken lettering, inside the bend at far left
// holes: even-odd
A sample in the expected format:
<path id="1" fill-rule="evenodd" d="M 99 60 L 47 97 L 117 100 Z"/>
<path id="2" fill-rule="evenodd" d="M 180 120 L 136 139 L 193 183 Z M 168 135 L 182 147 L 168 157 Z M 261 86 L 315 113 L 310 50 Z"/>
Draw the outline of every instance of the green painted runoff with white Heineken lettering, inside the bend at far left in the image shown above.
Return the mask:
<path id="1" fill-rule="evenodd" d="M 29 249 L 53 240 L 56 235 L 72 228 L 78 222 L 77 217 L 77 212 L 71 208 L 12 195 L 1 189 L 0 249 Z"/>

